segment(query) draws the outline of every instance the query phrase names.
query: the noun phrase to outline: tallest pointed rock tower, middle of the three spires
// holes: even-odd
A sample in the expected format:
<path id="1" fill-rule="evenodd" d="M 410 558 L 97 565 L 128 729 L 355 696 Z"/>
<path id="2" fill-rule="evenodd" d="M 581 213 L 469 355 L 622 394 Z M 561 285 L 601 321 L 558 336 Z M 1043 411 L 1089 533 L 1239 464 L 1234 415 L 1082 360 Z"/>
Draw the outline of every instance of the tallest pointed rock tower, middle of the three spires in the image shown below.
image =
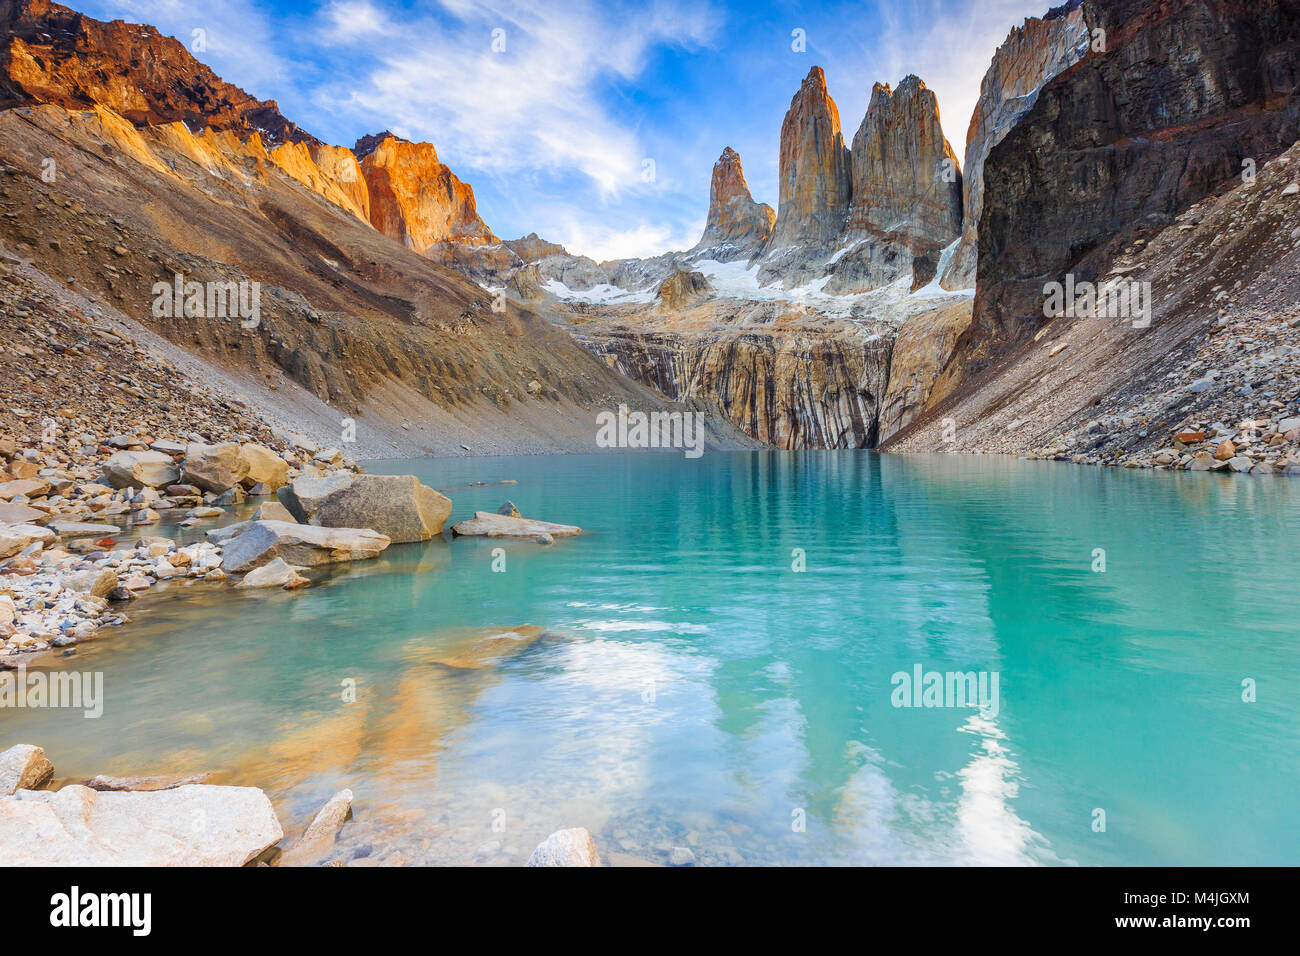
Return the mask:
<path id="1" fill-rule="evenodd" d="M 844 230 L 852 190 L 840 111 L 814 66 L 781 124 L 780 209 L 770 245 L 833 239 Z"/>

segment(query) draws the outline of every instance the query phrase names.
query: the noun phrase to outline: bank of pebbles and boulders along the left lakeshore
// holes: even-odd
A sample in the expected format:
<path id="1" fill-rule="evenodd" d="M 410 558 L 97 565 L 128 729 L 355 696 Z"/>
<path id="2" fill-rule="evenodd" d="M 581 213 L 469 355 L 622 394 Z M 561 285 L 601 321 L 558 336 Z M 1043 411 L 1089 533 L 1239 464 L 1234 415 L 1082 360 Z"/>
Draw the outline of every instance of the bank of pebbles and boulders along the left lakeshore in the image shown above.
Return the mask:
<path id="1" fill-rule="evenodd" d="M 246 496 L 269 496 L 303 476 L 320 480 L 355 468 L 335 450 L 282 441 L 278 449 L 252 441 L 209 444 L 199 433 L 185 438 L 144 429 L 84 432 L 65 441 L 48 432 L 0 436 L 0 662 L 64 648 L 122 623 L 125 604 L 160 581 L 225 580 L 221 545 L 178 545 L 151 533 L 164 516 L 200 524 L 224 518 L 225 509 Z M 300 535 L 330 540 L 292 551 L 296 563 L 344 559 L 334 540 L 346 538 L 344 529 Z M 373 537 L 347 557 L 373 557 L 387 546 L 387 538 L 364 535 Z M 382 546 L 374 546 L 380 541 Z M 320 554 L 312 555 L 315 550 Z M 261 563 L 243 561 L 239 570 Z M 280 581 L 302 583 L 296 574 Z"/>

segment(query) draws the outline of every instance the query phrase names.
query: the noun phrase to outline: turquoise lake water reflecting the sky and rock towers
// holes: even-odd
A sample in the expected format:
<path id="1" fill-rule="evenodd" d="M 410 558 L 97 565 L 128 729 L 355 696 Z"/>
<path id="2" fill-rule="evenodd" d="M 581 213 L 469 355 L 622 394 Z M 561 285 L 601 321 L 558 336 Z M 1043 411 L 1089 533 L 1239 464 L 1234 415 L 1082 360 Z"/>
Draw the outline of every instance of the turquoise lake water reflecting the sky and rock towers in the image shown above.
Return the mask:
<path id="1" fill-rule="evenodd" d="M 855 451 L 370 468 L 452 520 L 510 498 L 586 533 L 168 585 L 53 663 L 104 674 L 100 719 L 10 710 L 0 749 L 214 771 L 291 836 L 347 786 L 338 856 L 372 862 L 520 864 L 566 826 L 615 865 L 1300 858 L 1300 483 Z M 447 666 L 514 626 L 546 632 Z M 918 666 L 997 696 L 894 706 Z"/>

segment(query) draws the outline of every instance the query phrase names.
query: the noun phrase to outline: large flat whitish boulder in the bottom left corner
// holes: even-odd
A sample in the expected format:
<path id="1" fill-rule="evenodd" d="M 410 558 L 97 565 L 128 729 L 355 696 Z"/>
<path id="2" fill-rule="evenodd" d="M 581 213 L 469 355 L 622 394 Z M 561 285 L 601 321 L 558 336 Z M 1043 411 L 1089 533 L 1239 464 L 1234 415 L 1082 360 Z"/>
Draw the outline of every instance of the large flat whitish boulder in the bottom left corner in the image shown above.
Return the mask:
<path id="1" fill-rule="evenodd" d="M 0 860 L 10 866 L 243 866 L 283 835 L 255 787 L 74 784 L 0 799 Z"/>

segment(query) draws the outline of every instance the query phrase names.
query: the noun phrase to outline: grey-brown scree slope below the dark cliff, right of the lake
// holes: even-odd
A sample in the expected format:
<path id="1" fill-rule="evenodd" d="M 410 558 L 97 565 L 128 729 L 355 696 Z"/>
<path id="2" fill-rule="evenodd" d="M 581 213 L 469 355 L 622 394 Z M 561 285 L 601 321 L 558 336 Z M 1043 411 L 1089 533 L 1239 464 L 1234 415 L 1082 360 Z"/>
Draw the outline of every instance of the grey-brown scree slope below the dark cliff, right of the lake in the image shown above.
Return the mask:
<path id="1" fill-rule="evenodd" d="M 1124 248 L 1106 277 L 1150 284 L 1149 324 L 1045 320 L 956 390 L 950 363 L 887 447 L 1300 475 L 1297 224 L 1300 142 Z"/>

